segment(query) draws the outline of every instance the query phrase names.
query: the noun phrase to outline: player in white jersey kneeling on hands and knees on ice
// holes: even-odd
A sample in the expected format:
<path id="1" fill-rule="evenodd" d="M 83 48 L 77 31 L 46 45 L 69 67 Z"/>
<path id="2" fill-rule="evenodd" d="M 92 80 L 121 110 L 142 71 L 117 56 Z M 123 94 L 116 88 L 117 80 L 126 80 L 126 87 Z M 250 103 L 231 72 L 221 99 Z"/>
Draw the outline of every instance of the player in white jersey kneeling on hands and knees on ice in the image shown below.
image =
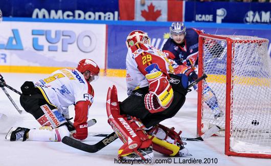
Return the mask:
<path id="1" fill-rule="evenodd" d="M 41 125 L 38 129 L 11 128 L 6 139 L 15 141 L 61 141 L 76 130 L 73 137 L 87 137 L 87 114 L 93 103 L 94 90 L 89 84 L 97 79 L 99 66 L 90 59 L 83 59 L 77 68 L 56 70 L 48 78 L 25 82 L 21 86 L 21 106 L 31 113 Z M 69 120 L 70 105 L 75 105 L 74 124 Z"/>

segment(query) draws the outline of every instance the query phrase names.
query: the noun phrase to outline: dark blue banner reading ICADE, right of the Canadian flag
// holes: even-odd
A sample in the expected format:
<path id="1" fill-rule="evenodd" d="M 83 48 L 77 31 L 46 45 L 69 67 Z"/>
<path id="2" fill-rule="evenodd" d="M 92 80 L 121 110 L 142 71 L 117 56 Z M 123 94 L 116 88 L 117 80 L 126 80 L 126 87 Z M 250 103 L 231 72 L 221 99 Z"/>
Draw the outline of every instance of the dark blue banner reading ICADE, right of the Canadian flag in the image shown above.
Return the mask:
<path id="1" fill-rule="evenodd" d="M 186 2 L 185 21 L 271 23 L 271 3 Z"/>

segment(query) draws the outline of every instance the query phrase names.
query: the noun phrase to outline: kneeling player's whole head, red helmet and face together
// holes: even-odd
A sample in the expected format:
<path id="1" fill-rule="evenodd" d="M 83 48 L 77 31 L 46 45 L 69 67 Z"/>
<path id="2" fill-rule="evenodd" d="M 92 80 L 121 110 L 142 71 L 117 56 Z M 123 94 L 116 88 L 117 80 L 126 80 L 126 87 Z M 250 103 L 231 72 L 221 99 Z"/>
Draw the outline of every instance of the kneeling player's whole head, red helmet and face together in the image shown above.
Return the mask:
<path id="1" fill-rule="evenodd" d="M 99 78 L 100 68 L 91 59 L 82 59 L 76 68 L 80 73 L 89 74 L 88 82 L 96 81 Z"/>

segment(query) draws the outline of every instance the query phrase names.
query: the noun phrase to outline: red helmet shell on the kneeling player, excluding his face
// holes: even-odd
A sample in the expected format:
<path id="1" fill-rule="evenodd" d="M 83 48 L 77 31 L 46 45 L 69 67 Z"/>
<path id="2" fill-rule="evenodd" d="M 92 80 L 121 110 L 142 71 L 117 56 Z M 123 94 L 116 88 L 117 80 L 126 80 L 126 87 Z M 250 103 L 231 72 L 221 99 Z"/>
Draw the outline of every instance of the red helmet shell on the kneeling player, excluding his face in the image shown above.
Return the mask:
<path id="1" fill-rule="evenodd" d="M 78 71 L 81 72 L 82 74 L 86 70 L 88 70 L 89 72 L 91 72 L 93 76 L 97 76 L 100 73 L 99 66 L 91 59 L 80 60 L 76 69 L 78 69 Z"/>

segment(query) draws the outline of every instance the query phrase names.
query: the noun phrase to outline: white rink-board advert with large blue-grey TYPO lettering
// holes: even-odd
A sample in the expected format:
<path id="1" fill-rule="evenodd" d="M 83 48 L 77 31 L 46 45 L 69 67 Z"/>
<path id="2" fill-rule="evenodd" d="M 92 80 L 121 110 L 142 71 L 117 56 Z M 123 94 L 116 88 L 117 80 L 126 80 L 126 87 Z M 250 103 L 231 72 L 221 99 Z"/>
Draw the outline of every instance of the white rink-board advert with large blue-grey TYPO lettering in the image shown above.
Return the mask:
<path id="1" fill-rule="evenodd" d="M 91 58 L 105 67 L 105 25 L 2 21 L 0 29 L 1 66 L 76 67 Z"/>

